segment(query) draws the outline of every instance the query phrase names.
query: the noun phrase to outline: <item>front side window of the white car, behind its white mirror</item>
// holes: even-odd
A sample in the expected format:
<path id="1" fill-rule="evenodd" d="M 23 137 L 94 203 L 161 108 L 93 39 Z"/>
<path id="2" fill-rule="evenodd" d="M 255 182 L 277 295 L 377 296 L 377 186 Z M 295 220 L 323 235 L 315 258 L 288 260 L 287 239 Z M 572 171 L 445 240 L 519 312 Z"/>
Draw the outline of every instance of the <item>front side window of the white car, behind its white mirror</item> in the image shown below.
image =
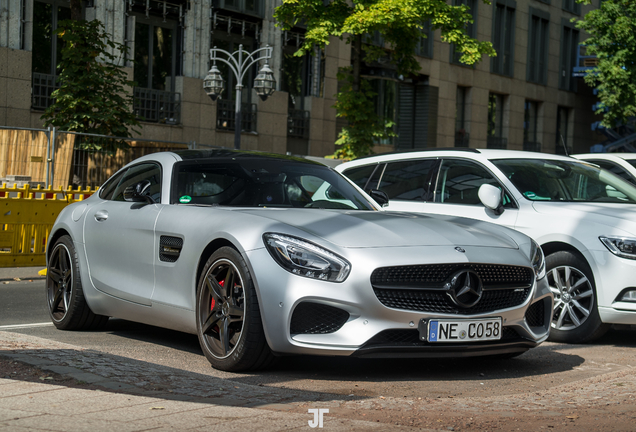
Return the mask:
<path id="1" fill-rule="evenodd" d="M 483 184 L 501 189 L 497 179 L 482 166 L 471 161 L 446 159 L 439 171 L 435 202 L 482 205 L 478 192 Z M 507 193 L 504 195 L 504 207 L 515 207 Z"/>

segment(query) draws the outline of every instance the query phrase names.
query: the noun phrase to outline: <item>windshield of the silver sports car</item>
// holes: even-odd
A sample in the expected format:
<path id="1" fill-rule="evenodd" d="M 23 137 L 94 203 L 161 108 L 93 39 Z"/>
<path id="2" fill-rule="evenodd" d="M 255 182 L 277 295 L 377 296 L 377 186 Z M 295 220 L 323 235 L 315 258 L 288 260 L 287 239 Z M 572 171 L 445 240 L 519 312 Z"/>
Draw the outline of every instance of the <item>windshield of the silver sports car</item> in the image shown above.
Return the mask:
<path id="1" fill-rule="evenodd" d="M 286 159 L 180 162 L 173 204 L 375 210 L 340 174 Z"/>

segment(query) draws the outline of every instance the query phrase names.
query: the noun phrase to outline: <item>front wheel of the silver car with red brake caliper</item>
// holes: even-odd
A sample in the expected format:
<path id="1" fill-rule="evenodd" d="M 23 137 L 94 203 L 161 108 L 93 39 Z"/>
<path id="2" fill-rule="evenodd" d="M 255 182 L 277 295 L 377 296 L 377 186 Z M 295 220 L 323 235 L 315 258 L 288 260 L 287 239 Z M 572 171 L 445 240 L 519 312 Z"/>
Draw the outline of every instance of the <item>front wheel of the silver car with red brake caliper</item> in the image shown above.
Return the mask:
<path id="1" fill-rule="evenodd" d="M 206 262 L 196 312 L 199 343 L 215 369 L 254 370 L 273 361 L 252 277 L 235 249 L 222 247 Z"/>

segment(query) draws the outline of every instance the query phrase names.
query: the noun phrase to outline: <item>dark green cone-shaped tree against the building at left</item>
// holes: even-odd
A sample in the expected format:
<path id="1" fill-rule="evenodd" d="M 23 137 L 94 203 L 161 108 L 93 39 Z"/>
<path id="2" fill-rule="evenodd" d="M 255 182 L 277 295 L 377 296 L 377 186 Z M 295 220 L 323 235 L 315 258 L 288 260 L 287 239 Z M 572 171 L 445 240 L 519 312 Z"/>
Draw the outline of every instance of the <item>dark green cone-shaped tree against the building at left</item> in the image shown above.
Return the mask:
<path id="1" fill-rule="evenodd" d="M 131 137 L 129 127 L 139 126 L 129 91 L 134 83 L 119 66 L 127 47 L 113 42 L 98 20 L 62 21 L 57 35 L 64 44 L 58 64 L 60 88 L 51 95 L 55 103 L 41 117 L 44 124 L 66 131 Z M 109 151 L 128 147 L 124 140 L 84 139 L 80 145 Z"/>

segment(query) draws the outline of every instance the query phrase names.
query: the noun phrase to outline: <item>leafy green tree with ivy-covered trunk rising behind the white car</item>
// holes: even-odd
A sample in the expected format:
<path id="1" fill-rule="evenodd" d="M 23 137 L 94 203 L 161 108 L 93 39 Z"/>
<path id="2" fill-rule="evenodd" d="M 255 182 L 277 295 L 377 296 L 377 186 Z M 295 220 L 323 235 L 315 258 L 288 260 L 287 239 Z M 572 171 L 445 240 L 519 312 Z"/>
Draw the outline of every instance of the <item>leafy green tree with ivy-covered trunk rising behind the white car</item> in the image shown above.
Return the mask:
<path id="1" fill-rule="evenodd" d="M 352 66 L 341 71 L 344 86 L 336 96 L 337 116 L 348 121 L 336 141 L 340 145 L 336 157 L 369 154 L 374 140 L 392 134 L 392 123 L 371 109 L 375 93 L 360 78 L 362 61 L 372 62 L 386 52 L 363 44 L 364 35 L 379 32 L 397 73 L 406 77 L 420 69 L 414 53 L 420 37 L 425 37 L 426 22 L 441 30 L 444 42 L 455 44 L 465 64 L 475 64 L 484 54 L 496 55 L 490 42 L 466 34 L 466 24 L 473 21 L 468 7 L 451 6 L 446 0 L 283 0 L 274 16 L 285 30 L 299 22 L 307 27 L 305 43 L 296 55 L 312 52 L 315 45 L 324 48 L 332 36 L 346 38 L 352 45 Z"/>

